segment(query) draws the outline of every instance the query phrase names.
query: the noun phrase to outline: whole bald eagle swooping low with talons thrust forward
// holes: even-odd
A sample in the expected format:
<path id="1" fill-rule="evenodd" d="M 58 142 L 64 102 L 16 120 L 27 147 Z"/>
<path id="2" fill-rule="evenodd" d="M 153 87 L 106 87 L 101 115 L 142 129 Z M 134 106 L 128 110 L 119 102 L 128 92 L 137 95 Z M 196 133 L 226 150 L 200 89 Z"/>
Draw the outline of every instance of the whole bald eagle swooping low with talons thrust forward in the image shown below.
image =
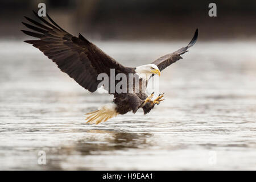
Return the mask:
<path id="1" fill-rule="evenodd" d="M 126 93 L 110 92 L 111 85 L 117 85 L 117 81 L 111 82 L 110 80 L 110 86 L 104 84 L 104 89 L 109 94 L 113 94 L 114 100 L 111 104 L 106 104 L 96 111 L 87 113 L 85 119 L 87 123 L 98 124 L 103 121 L 105 122 L 118 114 L 126 114 L 129 111 L 136 113 L 139 108 L 143 109 L 144 114 L 149 113 L 155 104 L 158 105 L 163 101 L 163 94 L 159 94 L 155 100 L 152 100 L 154 93 L 148 96 L 144 92 L 145 90 L 142 85 L 147 86 L 147 82 L 152 76 L 160 76 L 160 72 L 164 68 L 182 59 L 180 55 L 188 52 L 187 49 L 196 43 L 198 36 L 197 29 L 188 46 L 162 56 L 151 64 L 134 68 L 125 67 L 89 42 L 81 34 L 76 37 L 63 30 L 48 14 L 47 20 L 38 16 L 35 11 L 33 12 L 41 22 L 24 16 L 32 24 L 22 23 L 35 32 L 21 31 L 24 34 L 39 38 L 39 40 L 25 40 L 24 42 L 32 44 L 32 46 L 42 51 L 44 55 L 57 64 L 61 71 L 67 73 L 69 77 L 73 78 L 86 90 L 89 90 L 89 92 L 95 92 L 98 89 L 101 82 L 101 80 L 98 80 L 98 76 L 101 73 L 110 76 L 112 69 L 115 71 L 114 76 L 117 76 L 119 73 L 126 76 L 132 74 L 139 79 L 139 92 L 134 92 L 134 85 L 132 88 L 129 87 L 128 89 L 130 90 Z"/>

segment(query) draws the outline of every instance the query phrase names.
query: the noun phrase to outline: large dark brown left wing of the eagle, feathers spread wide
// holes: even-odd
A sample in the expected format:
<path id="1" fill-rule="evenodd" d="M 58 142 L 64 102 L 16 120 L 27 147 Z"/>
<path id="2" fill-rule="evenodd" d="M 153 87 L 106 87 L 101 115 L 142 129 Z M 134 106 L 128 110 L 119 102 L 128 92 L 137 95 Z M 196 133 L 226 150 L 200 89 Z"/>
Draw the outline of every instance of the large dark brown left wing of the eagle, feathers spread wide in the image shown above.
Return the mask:
<path id="1" fill-rule="evenodd" d="M 133 68 L 123 67 L 81 34 L 77 38 L 63 30 L 48 15 L 47 18 L 51 23 L 38 16 L 35 11 L 33 12 L 43 23 L 25 16 L 33 25 L 22 23 L 35 32 L 22 31 L 24 34 L 40 40 L 24 42 L 40 49 L 44 55 L 57 64 L 61 71 L 67 73 L 85 89 L 90 92 L 97 90 L 98 84 L 101 82 L 101 80 L 97 80 L 98 74 L 106 73 L 110 76 L 112 68 L 115 69 L 115 74 L 133 72 Z"/>

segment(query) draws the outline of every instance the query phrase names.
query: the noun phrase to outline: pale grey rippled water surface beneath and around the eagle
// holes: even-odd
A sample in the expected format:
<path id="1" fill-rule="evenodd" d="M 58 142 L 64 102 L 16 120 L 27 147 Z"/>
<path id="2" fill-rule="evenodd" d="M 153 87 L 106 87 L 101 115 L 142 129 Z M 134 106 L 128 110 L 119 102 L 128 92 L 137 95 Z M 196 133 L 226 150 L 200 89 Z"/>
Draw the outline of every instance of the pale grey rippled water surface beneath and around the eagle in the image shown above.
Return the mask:
<path id="1" fill-rule="evenodd" d="M 185 43 L 97 44 L 135 66 Z M 112 96 L 87 92 L 30 45 L 1 41 L 0 169 L 256 169 L 255 45 L 196 43 L 162 72 L 166 100 L 150 114 L 95 126 L 83 114 Z"/>

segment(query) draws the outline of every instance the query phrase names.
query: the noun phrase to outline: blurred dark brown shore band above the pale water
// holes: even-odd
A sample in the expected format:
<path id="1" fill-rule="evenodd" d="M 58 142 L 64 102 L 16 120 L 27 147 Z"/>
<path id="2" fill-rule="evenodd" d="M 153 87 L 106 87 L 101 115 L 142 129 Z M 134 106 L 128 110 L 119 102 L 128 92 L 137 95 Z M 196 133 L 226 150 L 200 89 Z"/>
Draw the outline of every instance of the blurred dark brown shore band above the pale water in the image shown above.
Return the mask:
<path id="1" fill-rule="evenodd" d="M 31 10 L 38 10 L 40 2 L 46 3 L 47 13 L 65 30 L 94 40 L 180 40 L 197 27 L 205 40 L 256 36 L 254 0 L 2 0 L 0 36 L 23 36 L 20 22 L 24 15 L 32 15 Z M 217 4 L 217 17 L 208 16 L 210 2 Z"/>

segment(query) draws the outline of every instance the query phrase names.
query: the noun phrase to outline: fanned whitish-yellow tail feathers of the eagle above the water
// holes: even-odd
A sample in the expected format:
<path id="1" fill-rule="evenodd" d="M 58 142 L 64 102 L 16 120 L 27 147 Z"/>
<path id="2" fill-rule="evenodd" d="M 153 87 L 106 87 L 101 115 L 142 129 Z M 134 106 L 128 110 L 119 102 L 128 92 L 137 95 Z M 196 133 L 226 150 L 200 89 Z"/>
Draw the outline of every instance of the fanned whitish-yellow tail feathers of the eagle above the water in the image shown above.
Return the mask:
<path id="1" fill-rule="evenodd" d="M 105 122 L 110 118 L 117 116 L 117 111 L 115 110 L 115 104 L 106 104 L 100 107 L 100 109 L 93 111 L 91 113 L 86 113 L 88 117 L 85 119 L 86 123 L 98 123 Z"/>

